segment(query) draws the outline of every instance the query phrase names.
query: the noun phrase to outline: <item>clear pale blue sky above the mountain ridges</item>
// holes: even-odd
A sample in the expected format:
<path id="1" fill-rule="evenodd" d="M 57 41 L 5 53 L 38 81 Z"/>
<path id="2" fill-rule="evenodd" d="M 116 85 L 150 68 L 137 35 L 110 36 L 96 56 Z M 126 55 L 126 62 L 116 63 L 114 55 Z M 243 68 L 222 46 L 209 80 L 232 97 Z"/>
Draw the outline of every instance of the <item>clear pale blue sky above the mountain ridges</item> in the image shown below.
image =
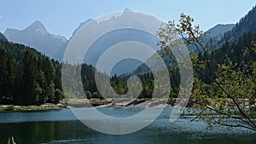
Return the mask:
<path id="1" fill-rule="evenodd" d="M 50 33 L 68 38 L 80 22 L 126 8 L 163 20 L 190 14 L 205 31 L 216 24 L 236 23 L 255 4 L 256 0 L 1 0 L 0 32 L 24 29 L 40 20 Z"/>

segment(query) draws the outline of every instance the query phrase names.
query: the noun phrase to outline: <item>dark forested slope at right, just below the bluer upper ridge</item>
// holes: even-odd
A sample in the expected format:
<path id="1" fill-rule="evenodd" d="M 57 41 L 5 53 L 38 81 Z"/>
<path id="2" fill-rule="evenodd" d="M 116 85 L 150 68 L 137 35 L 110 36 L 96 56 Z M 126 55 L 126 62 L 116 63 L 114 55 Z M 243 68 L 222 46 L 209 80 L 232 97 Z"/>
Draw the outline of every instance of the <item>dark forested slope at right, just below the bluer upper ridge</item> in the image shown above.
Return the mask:
<path id="1" fill-rule="evenodd" d="M 212 50 L 212 53 L 208 55 L 209 65 L 212 72 L 210 72 L 209 69 L 202 71 L 215 78 L 216 72 L 219 71 L 219 65 L 223 65 L 230 60 L 230 62 L 232 62 L 235 66 L 234 70 L 250 73 L 252 70 L 249 70 L 249 67 L 253 64 L 253 61 L 256 60 L 255 48 L 256 32 L 244 33 L 241 37 L 238 37 L 238 39 L 233 42 L 226 40 L 224 44 Z M 208 78 L 201 74 L 198 75 L 202 81 L 207 84 L 210 83 Z"/>

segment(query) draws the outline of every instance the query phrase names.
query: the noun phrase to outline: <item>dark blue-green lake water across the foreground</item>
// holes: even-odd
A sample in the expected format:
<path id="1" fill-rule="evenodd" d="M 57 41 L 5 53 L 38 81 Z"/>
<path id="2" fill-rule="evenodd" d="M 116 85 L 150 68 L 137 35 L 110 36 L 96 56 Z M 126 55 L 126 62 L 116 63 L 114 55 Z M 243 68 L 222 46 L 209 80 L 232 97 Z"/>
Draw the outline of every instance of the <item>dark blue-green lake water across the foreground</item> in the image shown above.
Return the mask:
<path id="1" fill-rule="evenodd" d="M 143 108 L 102 108 L 119 117 L 140 112 Z M 80 123 L 68 109 L 44 112 L 1 112 L 0 144 L 14 136 L 17 144 L 255 144 L 256 133 L 244 129 L 215 127 L 207 130 L 203 122 L 178 118 L 170 123 L 171 108 L 166 108 L 154 123 L 129 135 L 107 135 Z"/>

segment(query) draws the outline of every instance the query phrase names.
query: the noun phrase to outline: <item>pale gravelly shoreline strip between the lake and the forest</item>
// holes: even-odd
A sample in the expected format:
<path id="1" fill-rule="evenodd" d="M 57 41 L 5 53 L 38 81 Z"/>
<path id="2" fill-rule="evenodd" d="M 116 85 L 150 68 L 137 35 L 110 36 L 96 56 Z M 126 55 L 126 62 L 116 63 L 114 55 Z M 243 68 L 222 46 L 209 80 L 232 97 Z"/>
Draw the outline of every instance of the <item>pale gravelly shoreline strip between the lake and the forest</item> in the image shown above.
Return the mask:
<path id="1" fill-rule="evenodd" d="M 108 107 L 173 107 L 174 103 L 166 103 L 165 100 L 148 101 L 147 99 L 137 99 L 135 101 L 102 101 L 102 100 L 90 100 L 81 101 L 79 99 L 67 102 L 61 101 L 58 104 L 44 104 L 40 106 L 15 106 L 15 105 L 0 105 L 0 112 L 32 112 L 32 111 L 47 111 L 47 110 L 60 110 L 64 108 L 73 107 L 96 107 L 96 108 L 108 108 Z M 189 105 L 188 105 L 189 107 Z"/>

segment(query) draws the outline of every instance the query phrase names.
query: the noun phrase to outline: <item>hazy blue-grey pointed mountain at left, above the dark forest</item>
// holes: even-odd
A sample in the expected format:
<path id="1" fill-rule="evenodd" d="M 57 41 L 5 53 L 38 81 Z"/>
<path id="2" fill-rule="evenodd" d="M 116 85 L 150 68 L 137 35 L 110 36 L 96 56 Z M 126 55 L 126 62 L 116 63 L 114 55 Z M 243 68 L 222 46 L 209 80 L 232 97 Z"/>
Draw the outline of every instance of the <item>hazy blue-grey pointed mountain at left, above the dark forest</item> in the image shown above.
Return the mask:
<path id="1" fill-rule="evenodd" d="M 55 60 L 62 60 L 67 47 L 66 37 L 50 34 L 38 20 L 24 30 L 8 28 L 4 35 L 10 42 L 25 44 Z"/>

